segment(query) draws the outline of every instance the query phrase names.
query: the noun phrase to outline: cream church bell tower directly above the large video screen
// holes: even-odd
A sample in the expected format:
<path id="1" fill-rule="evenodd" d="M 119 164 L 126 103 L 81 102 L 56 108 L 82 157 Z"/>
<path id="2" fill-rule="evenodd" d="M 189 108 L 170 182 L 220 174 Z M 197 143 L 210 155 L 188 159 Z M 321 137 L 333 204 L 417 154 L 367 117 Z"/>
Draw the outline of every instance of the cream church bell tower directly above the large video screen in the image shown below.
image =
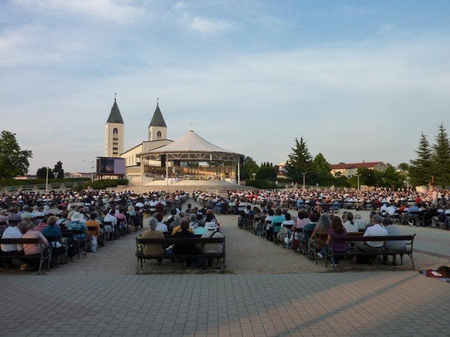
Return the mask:
<path id="1" fill-rule="evenodd" d="M 114 104 L 104 126 L 105 157 L 120 158 L 120 154 L 123 153 L 123 126 L 123 119 L 114 98 Z"/>

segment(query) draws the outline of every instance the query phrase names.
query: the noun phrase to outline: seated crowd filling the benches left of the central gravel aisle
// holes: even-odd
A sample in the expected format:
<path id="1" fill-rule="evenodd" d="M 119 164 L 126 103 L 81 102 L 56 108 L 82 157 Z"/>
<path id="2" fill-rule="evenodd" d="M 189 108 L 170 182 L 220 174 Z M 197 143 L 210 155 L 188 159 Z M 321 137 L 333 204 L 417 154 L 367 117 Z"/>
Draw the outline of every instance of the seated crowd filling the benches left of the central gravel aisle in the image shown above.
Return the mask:
<path id="1" fill-rule="evenodd" d="M 37 244 L 1 244 L 0 260 L 7 268 L 14 268 L 8 256 L 23 255 L 21 269 L 34 270 L 39 261 L 29 259 L 41 253 L 55 256 L 74 256 L 79 250 L 95 251 L 105 240 L 118 239 L 127 232 L 142 227 L 148 209 L 166 209 L 180 205 L 185 192 L 150 192 L 134 194 L 131 191 L 80 191 L 1 195 L 0 237 L 2 239 L 39 238 Z M 162 206 L 162 207 L 160 207 Z M 162 219 L 162 216 L 161 216 Z M 88 230 L 89 228 L 89 230 Z M 78 231 L 64 238 L 62 232 Z M 58 237 L 48 242 L 48 237 Z M 51 245 L 51 247 L 50 247 Z M 52 259 L 52 264 L 59 259 Z"/>

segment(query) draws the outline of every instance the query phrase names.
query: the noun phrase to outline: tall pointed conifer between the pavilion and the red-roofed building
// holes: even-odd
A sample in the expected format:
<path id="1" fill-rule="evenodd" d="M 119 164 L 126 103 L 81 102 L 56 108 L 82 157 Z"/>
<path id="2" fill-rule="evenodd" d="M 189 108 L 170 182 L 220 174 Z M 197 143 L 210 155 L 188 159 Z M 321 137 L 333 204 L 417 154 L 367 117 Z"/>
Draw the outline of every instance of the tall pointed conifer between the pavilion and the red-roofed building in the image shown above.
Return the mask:
<path id="1" fill-rule="evenodd" d="M 308 172 L 305 180 L 309 183 L 313 180 L 312 157 L 306 146 L 306 142 L 303 140 L 303 136 L 300 137 L 300 141 L 295 138 L 295 147 L 291 148 L 292 153 L 287 156 L 286 161 L 286 177 L 291 178 L 295 182 L 302 182 L 302 172 Z M 307 179 L 306 179 L 307 178 Z"/>

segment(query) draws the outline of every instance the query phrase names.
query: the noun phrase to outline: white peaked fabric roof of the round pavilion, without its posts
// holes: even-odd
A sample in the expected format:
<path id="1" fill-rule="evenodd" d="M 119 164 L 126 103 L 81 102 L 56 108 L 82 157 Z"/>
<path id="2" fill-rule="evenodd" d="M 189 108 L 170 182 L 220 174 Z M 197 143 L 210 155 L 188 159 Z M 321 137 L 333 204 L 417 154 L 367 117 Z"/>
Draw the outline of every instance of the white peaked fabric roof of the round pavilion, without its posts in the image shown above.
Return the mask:
<path id="1" fill-rule="evenodd" d="M 192 130 L 188 131 L 184 136 L 175 140 L 174 142 L 149 151 L 148 153 L 178 153 L 178 152 L 221 152 L 221 153 L 234 153 L 222 149 L 209 143 L 206 139 L 201 138 Z"/>

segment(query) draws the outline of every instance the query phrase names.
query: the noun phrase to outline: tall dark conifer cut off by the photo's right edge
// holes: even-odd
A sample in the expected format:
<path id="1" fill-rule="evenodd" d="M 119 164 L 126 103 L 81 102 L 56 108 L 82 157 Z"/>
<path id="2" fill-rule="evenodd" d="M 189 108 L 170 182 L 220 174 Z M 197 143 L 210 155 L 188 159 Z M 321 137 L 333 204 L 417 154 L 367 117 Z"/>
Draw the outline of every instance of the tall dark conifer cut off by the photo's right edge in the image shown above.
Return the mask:
<path id="1" fill-rule="evenodd" d="M 436 185 L 442 188 L 450 185 L 450 142 L 443 123 L 439 125 L 439 131 L 432 146 L 431 159 Z"/>

